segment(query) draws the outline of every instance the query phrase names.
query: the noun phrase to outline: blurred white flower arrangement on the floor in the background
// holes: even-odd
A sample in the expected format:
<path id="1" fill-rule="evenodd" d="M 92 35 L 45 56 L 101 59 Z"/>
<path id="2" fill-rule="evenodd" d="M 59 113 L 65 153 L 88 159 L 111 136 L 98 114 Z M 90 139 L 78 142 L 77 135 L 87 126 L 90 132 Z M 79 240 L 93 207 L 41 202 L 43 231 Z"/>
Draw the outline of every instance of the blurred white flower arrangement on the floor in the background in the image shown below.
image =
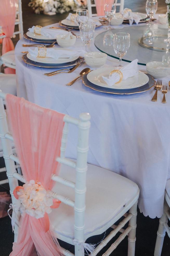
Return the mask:
<path id="1" fill-rule="evenodd" d="M 30 0 L 28 6 L 36 14 L 40 13 L 64 13 L 73 11 L 77 7 L 85 7 L 86 0 Z"/>

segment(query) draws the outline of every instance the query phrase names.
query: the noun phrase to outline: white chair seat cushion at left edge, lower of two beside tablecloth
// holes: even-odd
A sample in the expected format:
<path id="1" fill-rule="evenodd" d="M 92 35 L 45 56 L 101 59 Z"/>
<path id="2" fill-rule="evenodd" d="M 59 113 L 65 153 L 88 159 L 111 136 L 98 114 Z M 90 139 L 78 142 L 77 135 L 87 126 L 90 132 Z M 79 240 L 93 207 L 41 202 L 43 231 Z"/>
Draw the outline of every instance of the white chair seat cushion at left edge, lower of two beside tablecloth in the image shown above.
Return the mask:
<path id="1" fill-rule="evenodd" d="M 2 92 L 17 95 L 15 74 L 0 74 L 0 89 Z"/>

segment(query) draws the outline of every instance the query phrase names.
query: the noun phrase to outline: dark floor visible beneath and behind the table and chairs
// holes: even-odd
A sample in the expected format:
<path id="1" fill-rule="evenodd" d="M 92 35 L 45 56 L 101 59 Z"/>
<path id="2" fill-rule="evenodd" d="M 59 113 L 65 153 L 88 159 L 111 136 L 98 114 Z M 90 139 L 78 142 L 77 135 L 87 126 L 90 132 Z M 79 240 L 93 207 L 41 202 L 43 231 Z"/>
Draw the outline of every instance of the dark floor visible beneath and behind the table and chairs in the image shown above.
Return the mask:
<path id="1" fill-rule="evenodd" d="M 2 1 L 2 0 L 0 0 Z M 22 10 L 23 10 L 23 26 L 24 32 L 28 30 L 29 27 L 33 25 L 50 25 L 58 22 L 61 19 L 64 19 L 68 14 L 57 14 L 54 16 L 48 15 L 36 15 L 28 7 L 29 0 L 22 0 Z M 139 11 L 145 13 L 145 1 L 144 0 L 125 0 L 125 7 L 132 9 L 133 11 Z M 166 4 L 164 0 L 158 0 L 158 13 L 166 12 Z M 16 44 L 18 38 L 14 39 L 14 43 Z M 0 158 L 0 168 L 4 166 L 4 161 Z M 3 177 L 4 176 L 4 177 Z M 5 179 L 5 174 L 0 173 L 0 180 Z M 6 189 L 7 190 L 6 190 Z M 0 191 L 9 191 L 8 185 L 0 186 Z M 102 210 L 102 209 L 101 209 Z M 138 210 L 137 216 L 137 231 L 136 231 L 136 256 L 153 256 L 154 255 L 154 246 L 156 241 L 156 232 L 158 230 L 159 220 L 157 218 L 151 219 L 149 217 L 144 217 L 142 213 Z M 109 231 L 109 230 L 108 230 Z M 107 231 L 107 233 L 108 233 Z M 88 243 L 97 243 L 101 241 L 104 237 L 104 234 L 100 236 L 95 236 L 87 240 Z M 13 242 L 13 234 L 11 227 L 11 220 L 9 217 L 5 217 L 0 219 L 0 255 L 8 256 L 12 250 L 12 242 Z M 112 240 L 112 242 L 115 241 Z M 111 242 L 106 246 L 107 248 Z M 112 256 L 125 256 L 127 255 L 127 238 L 121 242 L 121 244 L 117 247 L 117 249 L 111 254 Z M 74 246 L 68 245 L 66 243 L 61 242 L 61 246 L 69 249 L 74 253 Z M 106 248 L 99 253 L 106 251 Z M 162 256 L 170 255 L 170 241 L 168 236 L 166 235 L 164 240 L 164 246 L 162 249 Z M 25 255 L 27 256 L 27 255 Z M 47 255 L 48 256 L 48 255 Z"/>

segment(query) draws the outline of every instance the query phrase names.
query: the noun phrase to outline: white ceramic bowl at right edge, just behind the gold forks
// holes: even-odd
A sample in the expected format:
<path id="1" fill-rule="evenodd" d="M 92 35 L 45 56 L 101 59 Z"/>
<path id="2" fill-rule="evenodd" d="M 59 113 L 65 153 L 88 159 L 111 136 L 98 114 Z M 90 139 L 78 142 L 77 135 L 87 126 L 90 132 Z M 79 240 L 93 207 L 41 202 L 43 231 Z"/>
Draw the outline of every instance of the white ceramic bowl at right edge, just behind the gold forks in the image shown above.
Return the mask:
<path id="1" fill-rule="evenodd" d="M 170 71 L 170 65 L 161 61 L 151 61 L 146 64 L 148 74 L 152 75 L 155 79 L 166 77 Z"/>

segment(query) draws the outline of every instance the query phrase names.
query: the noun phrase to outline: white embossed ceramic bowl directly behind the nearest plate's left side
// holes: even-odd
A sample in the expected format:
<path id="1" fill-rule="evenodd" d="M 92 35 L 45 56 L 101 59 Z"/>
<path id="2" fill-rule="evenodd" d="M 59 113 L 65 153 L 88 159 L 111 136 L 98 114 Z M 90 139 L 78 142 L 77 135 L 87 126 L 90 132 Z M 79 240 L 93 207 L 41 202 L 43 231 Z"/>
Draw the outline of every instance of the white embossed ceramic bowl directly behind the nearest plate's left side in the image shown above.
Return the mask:
<path id="1" fill-rule="evenodd" d="M 84 54 L 84 60 L 91 68 L 99 68 L 106 63 L 107 54 L 93 51 Z"/>

